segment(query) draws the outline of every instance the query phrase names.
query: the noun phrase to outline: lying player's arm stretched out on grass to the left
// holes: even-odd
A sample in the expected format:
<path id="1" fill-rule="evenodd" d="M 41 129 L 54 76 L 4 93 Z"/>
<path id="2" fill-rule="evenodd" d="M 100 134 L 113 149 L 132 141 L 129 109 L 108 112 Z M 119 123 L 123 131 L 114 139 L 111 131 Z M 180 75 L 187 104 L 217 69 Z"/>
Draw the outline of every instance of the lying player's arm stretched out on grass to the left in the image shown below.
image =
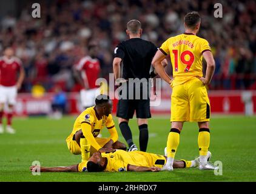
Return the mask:
<path id="1" fill-rule="evenodd" d="M 29 169 L 32 172 L 78 172 L 78 164 L 63 167 L 30 166 Z"/>

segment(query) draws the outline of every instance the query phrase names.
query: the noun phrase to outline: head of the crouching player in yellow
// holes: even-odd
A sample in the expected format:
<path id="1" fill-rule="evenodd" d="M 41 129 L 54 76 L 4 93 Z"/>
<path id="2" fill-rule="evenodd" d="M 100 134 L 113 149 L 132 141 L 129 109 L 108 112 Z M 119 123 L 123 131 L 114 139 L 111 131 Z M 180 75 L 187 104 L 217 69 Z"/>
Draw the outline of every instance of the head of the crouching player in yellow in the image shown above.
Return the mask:
<path id="1" fill-rule="evenodd" d="M 95 99 L 96 107 L 98 107 L 99 114 L 109 116 L 112 112 L 113 103 L 107 95 L 98 95 Z"/>

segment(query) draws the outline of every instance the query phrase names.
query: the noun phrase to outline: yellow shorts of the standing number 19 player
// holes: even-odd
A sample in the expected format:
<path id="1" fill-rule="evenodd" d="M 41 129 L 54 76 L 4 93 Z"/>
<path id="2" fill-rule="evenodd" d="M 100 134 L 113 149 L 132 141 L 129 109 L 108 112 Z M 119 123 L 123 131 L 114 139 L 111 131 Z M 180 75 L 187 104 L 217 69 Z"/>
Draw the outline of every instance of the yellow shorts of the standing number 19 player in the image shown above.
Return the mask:
<path id="1" fill-rule="evenodd" d="M 205 85 L 198 78 L 172 88 L 170 121 L 210 120 L 210 102 Z"/>

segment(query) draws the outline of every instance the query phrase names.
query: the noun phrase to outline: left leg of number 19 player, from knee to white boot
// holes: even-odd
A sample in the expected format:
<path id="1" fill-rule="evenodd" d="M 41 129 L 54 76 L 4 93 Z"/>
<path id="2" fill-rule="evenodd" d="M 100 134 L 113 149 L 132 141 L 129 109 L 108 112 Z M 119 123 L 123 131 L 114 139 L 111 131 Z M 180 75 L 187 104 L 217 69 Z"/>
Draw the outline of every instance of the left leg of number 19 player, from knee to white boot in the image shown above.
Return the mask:
<path id="1" fill-rule="evenodd" d="M 162 170 L 173 170 L 173 161 L 175 153 L 177 152 L 178 145 L 180 144 L 180 132 L 183 127 L 183 122 L 172 122 L 172 129 L 167 139 L 167 161 Z"/>

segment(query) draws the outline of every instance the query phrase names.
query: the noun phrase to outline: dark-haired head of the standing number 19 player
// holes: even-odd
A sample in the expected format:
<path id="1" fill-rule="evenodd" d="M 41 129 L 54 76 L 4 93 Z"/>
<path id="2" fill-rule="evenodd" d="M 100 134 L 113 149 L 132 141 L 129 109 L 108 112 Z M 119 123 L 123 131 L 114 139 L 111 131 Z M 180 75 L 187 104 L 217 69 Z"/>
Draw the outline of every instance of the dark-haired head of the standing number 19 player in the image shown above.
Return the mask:
<path id="1" fill-rule="evenodd" d="M 185 29 L 190 29 L 190 30 L 199 30 L 200 27 L 200 15 L 198 12 L 190 12 L 187 13 L 187 15 L 184 18 L 184 27 Z"/>

